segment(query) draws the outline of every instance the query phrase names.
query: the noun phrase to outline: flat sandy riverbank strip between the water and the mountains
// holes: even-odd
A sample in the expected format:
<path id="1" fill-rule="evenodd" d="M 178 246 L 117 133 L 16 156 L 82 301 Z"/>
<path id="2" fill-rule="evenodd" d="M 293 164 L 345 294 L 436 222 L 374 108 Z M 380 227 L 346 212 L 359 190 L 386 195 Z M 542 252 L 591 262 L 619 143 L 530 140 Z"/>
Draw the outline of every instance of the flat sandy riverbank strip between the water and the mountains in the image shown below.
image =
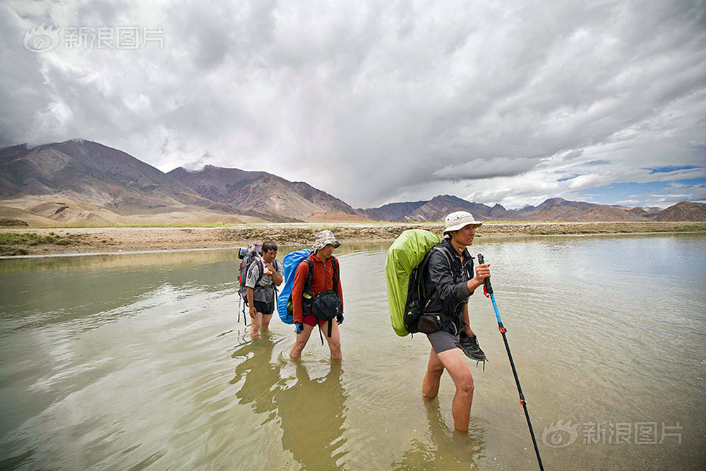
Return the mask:
<path id="1" fill-rule="evenodd" d="M 311 244 L 321 229 L 341 242 L 394 240 L 406 229 L 441 233 L 441 224 L 270 224 L 230 227 L 78 227 L 0 229 L 0 255 L 90 254 L 97 252 L 218 249 L 272 239 Z M 706 232 L 706 222 L 486 222 L 477 237 L 562 234 Z"/>

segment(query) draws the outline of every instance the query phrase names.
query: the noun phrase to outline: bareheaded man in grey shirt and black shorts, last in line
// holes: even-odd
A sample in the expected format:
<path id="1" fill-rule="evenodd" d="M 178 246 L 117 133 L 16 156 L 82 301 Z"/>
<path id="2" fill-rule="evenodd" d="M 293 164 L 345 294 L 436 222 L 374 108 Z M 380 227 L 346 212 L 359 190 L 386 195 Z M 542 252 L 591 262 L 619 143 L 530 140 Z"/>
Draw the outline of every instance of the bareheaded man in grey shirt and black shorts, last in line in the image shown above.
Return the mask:
<path id="1" fill-rule="evenodd" d="M 282 263 L 277 261 L 277 244 L 271 240 L 262 245 L 262 252 L 244 258 L 245 294 L 249 306 L 250 338 L 255 340 L 261 330 L 268 330 L 275 311 L 277 286 L 282 284 Z M 246 256 L 247 258 L 248 256 Z M 249 266 L 246 266 L 246 262 Z"/>

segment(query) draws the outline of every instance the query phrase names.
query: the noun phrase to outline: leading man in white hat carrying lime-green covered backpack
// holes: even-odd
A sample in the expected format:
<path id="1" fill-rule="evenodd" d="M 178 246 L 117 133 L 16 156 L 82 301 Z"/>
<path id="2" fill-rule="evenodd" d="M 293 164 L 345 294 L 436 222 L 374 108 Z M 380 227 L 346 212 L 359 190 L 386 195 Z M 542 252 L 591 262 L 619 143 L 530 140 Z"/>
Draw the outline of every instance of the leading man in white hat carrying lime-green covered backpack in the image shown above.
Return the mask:
<path id="1" fill-rule="evenodd" d="M 443 371 L 456 386 L 451 411 L 456 429 L 466 431 L 473 400 L 473 377 L 460 354 L 485 360 L 469 326 L 468 297 L 490 276 L 489 265 L 476 267 L 467 247 L 482 222 L 471 213 L 445 217 L 442 240 L 421 229 L 402 232 L 388 250 L 385 273 L 390 320 L 395 333 L 424 333 L 431 343 L 422 393 L 436 398 Z"/>

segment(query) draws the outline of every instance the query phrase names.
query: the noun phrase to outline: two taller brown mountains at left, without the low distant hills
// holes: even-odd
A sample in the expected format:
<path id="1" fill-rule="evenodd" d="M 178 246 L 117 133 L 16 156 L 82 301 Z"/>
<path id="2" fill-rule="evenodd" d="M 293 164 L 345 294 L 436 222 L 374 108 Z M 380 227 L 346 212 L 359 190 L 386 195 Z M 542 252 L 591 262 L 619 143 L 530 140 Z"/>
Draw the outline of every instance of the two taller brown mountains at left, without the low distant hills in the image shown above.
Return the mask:
<path id="1" fill-rule="evenodd" d="M 79 139 L 0 149 L 0 217 L 32 225 L 370 220 L 303 181 L 212 165 L 164 174 Z"/>

